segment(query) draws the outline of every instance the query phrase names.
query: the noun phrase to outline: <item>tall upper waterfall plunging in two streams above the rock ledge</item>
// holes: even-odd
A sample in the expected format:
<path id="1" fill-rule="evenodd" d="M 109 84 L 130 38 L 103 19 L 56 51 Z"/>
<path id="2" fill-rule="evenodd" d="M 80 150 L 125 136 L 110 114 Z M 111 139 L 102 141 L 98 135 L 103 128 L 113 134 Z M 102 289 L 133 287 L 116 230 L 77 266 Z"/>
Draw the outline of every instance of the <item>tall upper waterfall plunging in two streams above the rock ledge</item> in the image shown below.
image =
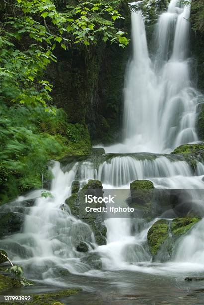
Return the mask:
<path id="1" fill-rule="evenodd" d="M 191 82 L 188 59 L 190 7 L 180 8 L 179 2 L 172 0 L 159 18 L 152 60 L 142 13 L 132 12 L 133 58 L 124 88 L 124 140 L 106 147 L 106 153 L 169 153 L 198 141 L 199 92 Z"/>

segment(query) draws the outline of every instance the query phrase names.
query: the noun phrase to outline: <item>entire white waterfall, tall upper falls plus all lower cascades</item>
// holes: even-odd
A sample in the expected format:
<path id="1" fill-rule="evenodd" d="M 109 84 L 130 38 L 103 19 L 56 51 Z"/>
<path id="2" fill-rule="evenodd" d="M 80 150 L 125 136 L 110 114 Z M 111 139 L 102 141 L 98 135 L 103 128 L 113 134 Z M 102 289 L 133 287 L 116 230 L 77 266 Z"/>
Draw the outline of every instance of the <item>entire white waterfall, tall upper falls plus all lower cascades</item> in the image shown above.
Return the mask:
<path id="1" fill-rule="evenodd" d="M 97 179 L 104 189 L 127 189 L 139 179 L 151 180 L 156 188 L 204 188 L 201 162 L 197 162 L 195 172 L 182 156 L 152 154 L 168 153 L 182 143 L 198 141 L 195 120 L 199 93 L 190 77 L 188 58 L 190 7 L 179 2 L 171 0 L 158 20 L 157 51 L 152 59 L 142 13 L 132 12 L 133 56 L 124 89 L 124 141 L 106 148 L 108 153 L 129 154 L 76 159 L 66 166 L 55 162 L 51 198 L 41 197 L 42 190 L 36 190 L 1 207 L 1 212 L 19 212 L 27 201 L 35 199 L 33 206 L 24 208 L 23 232 L 0 240 L 0 248 L 23 266 L 27 277 L 66 286 L 62 271 L 100 278 L 111 277 L 116 270 L 126 270 L 129 276 L 130 271 L 156 275 L 204 272 L 204 220 L 181 238 L 171 261 L 154 264 L 147 232 L 156 220 L 146 220 L 142 229 L 133 233 L 137 219 L 107 218 L 107 245 L 97 246 L 91 228 L 72 216 L 68 207 L 60 209 L 71 195 L 73 180 L 83 186 L 89 179 Z M 86 254 L 76 251 L 80 241 L 101 258 L 102 270 L 94 270 L 82 260 Z"/>

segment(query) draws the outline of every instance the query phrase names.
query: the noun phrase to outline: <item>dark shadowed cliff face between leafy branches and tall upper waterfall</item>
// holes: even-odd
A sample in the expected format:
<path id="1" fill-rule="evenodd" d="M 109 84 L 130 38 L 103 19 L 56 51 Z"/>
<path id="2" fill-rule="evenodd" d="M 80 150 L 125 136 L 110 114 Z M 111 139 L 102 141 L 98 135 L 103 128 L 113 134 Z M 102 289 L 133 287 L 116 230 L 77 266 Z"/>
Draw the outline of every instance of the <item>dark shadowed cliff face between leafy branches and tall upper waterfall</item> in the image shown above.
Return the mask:
<path id="1" fill-rule="evenodd" d="M 119 10 L 125 20 L 118 28 L 131 27 L 128 1 Z M 50 64 L 47 76 L 53 87 L 53 103 L 68 114 L 70 123 L 87 124 L 91 140 L 111 143 L 119 139 L 122 118 L 123 85 L 130 47 L 116 44 L 90 47 L 89 51 L 56 48 L 58 63 Z"/>

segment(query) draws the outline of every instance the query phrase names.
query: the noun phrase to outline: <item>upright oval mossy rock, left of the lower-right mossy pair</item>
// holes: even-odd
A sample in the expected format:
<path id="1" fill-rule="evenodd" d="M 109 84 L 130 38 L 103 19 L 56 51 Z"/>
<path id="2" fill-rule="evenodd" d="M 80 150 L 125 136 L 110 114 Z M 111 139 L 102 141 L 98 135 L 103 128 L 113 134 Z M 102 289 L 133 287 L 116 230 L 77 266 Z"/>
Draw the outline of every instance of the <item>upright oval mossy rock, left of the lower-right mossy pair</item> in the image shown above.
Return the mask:
<path id="1" fill-rule="evenodd" d="M 162 243 L 168 237 L 168 221 L 160 219 L 156 221 L 147 233 L 147 240 L 152 255 L 156 255 Z"/>

